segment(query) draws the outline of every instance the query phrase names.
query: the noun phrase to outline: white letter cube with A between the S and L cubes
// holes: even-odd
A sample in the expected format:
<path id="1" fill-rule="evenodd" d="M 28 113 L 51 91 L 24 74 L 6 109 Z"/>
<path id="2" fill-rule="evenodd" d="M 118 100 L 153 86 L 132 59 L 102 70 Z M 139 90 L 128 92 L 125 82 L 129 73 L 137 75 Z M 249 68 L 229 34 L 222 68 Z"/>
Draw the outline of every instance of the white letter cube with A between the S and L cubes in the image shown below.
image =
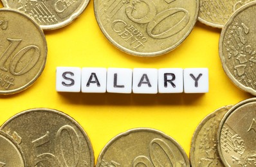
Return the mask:
<path id="1" fill-rule="evenodd" d="M 82 68 L 82 92 L 105 92 L 107 69 L 101 67 Z"/>

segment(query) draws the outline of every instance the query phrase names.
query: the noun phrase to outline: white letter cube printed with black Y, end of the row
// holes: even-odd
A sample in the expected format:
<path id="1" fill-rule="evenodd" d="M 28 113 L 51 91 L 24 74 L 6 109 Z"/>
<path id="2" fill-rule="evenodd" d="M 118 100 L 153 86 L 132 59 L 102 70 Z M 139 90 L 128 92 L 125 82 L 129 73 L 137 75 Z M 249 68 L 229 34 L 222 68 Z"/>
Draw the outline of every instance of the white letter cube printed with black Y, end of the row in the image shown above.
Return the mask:
<path id="1" fill-rule="evenodd" d="M 209 79 L 207 68 L 184 69 L 184 92 L 204 93 L 209 90 Z"/>

